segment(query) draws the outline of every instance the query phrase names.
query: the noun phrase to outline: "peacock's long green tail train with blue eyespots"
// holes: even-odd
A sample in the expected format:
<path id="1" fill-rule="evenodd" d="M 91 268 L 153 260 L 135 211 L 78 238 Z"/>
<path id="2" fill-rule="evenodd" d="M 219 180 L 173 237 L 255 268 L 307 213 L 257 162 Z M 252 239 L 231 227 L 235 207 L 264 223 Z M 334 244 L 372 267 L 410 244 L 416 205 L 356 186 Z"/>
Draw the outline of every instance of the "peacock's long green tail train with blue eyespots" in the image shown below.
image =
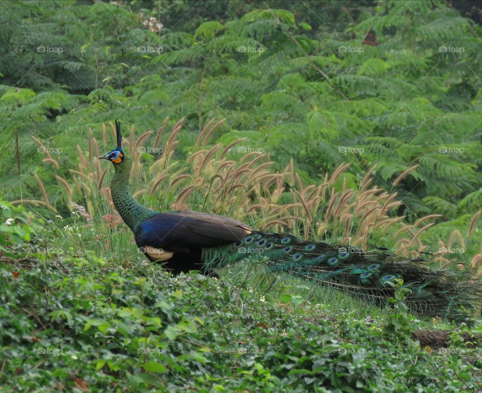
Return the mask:
<path id="1" fill-rule="evenodd" d="M 246 261 L 263 263 L 273 273 L 288 273 L 384 305 L 393 297 L 397 279 L 409 289 L 405 303 L 420 316 L 464 322 L 482 299 L 479 282 L 459 280 L 431 269 L 423 258 L 403 258 L 385 248 L 299 240 L 294 236 L 256 232 L 236 243 L 203 249 L 208 271 Z M 466 278 L 466 277 L 465 277 Z"/>

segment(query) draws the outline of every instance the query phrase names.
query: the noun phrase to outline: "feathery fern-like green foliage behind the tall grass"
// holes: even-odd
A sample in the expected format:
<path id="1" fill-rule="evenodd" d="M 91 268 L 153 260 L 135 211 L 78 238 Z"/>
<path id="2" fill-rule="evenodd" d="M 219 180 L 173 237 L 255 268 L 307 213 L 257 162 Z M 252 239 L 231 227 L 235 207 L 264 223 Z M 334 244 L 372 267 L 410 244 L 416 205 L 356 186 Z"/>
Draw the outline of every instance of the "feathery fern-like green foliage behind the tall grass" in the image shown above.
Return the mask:
<path id="1" fill-rule="evenodd" d="M 51 139 L 62 149 L 54 158 L 68 161 L 88 127 L 106 120 L 148 130 L 186 117 L 180 146 L 189 151 L 214 116 L 228 119 L 221 141 L 249 133 L 247 145 L 280 168 L 294 157 L 312 181 L 341 162 L 356 177 L 377 163 L 379 185 L 399 192 L 409 220 L 478 209 L 480 28 L 445 3 L 157 3 L 0 8 L 0 141 L 14 149 L 18 134 L 21 146 L 0 162 L 8 198 L 21 187 L 36 196 L 31 171 L 49 175 L 30 135 Z M 9 22 L 18 20 L 28 29 Z"/>

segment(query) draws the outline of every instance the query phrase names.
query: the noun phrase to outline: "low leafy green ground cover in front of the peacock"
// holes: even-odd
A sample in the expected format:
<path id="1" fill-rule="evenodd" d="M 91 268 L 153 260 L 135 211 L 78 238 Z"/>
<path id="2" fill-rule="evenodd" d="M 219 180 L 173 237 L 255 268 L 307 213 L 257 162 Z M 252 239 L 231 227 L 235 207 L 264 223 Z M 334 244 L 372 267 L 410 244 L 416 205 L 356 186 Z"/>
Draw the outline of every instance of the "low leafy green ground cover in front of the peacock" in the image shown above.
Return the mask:
<path id="1" fill-rule="evenodd" d="M 480 388 L 476 367 L 387 340 L 383 332 L 398 326 L 398 317 L 355 319 L 294 294 L 282 303 L 265 300 L 243 282 L 174 278 L 159 265 L 123 269 L 89 251 L 42 264 L 31 259 L 18 275 L 14 268 L 0 265 L 4 390 Z M 402 325 L 415 328 L 413 321 Z"/>

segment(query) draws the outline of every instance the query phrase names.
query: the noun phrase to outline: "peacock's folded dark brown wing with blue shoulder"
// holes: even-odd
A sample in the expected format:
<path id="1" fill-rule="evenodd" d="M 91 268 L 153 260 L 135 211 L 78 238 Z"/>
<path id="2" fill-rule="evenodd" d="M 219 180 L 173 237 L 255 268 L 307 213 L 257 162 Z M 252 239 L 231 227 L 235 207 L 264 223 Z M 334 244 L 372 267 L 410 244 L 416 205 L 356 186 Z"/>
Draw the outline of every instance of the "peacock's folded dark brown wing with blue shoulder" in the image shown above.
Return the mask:
<path id="1" fill-rule="evenodd" d="M 209 213 L 182 210 L 161 213 L 144 221 L 136 231 L 136 243 L 174 252 L 216 247 L 243 239 L 253 229 L 242 222 Z"/>

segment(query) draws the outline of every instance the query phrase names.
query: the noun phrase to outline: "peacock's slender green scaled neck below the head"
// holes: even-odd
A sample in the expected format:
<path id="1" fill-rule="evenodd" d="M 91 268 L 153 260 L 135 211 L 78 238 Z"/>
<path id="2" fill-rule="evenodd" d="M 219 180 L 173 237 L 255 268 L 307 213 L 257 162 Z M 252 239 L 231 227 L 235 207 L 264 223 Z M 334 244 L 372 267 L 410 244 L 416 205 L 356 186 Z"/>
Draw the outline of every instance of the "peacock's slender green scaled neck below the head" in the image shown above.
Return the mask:
<path id="1" fill-rule="evenodd" d="M 139 224 L 159 212 L 146 208 L 133 198 L 129 190 L 131 166 L 132 162 L 126 156 L 122 162 L 114 164 L 115 174 L 110 183 L 110 193 L 115 209 L 131 231 L 135 233 Z"/>

